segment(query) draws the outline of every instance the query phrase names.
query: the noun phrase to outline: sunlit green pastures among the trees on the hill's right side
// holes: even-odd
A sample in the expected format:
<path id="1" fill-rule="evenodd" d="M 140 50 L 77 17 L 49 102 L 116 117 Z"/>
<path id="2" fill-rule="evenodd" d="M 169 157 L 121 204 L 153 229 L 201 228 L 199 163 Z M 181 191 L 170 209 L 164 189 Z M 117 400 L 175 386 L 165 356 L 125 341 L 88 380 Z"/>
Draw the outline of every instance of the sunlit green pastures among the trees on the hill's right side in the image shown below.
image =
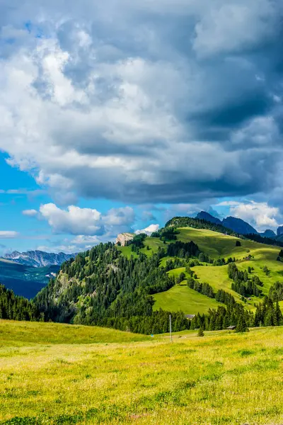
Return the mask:
<path id="1" fill-rule="evenodd" d="M 273 283 L 278 280 L 283 281 L 283 263 L 276 261 L 281 249 L 279 246 L 268 246 L 250 240 L 239 239 L 238 237 L 213 232 L 209 229 L 183 227 L 178 229 L 178 231 L 180 232 L 177 235 L 178 240 L 182 242 L 192 240 L 199 246 L 201 251 L 209 254 L 212 259 L 235 257 L 238 260 L 237 267 L 239 269 L 247 270 L 248 266 L 253 267 L 253 275 L 258 276 L 263 282 L 261 289 L 264 295 L 268 294 L 268 290 Z M 148 239 L 154 239 L 155 241 L 155 238 Z M 146 239 L 145 244 L 147 244 L 148 239 Z M 241 246 L 236 246 L 237 240 L 241 242 Z M 157 241 L 151 242 L 151 246 L 155 251 L 157 251 L 158 246 L 161 246 L 160 244 L 163 244 L 159 239 Z M 248 255 L 254 258 L 245 261 L 244 259 Z M 167 259 L 162 259 L 161 265 L 165 266 L 166 261 Z M 270 269 L 269 276 L 266 276 L 262 271 L 264 266 Z M 185 272 L 185 268 L 176 269 L 169 273 L 178 276 L 182 271 Z M 207 266 L 195 266 L 192 268 L 192 271 L 197 274 L 200 282 L 209 283 L 214 290 L 223 289 L 231 293 L 236 302 L 241 302 L 241 295 L 231 289 L 232 280 L 228 277 L 227 266 L 212 266 L 208 264 Z M 206 298 L 206 302 L 203 302 L 203 298 Z M 214 308 L 216 304 L 215 300 L 197 293 L 195 290 L 185 288 L 183 285 L 175 286 L 164 293 L 154 295 L 154 300 L 156 300 L 155 309 L 163 308 L 170 311 L 183 310 L 187 314 L 195 314 L 198 303 L 200 305 L 200 310 L 198 311 L 201 313 L 207 312 L 209 308 Z M 260 298 L 251 296 L 250 300 L 245 304 L 242 303 L 248 310 L 253 310 L 255 302 L 260 302 Z"/>

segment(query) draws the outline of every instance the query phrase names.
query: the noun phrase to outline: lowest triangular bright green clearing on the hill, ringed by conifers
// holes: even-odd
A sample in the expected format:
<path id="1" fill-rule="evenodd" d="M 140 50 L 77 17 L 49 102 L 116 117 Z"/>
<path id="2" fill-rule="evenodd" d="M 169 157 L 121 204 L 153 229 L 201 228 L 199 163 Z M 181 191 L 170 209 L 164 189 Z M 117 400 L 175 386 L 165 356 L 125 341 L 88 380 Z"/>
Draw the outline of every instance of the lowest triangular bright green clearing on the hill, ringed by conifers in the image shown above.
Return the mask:
<path id="1" fill-rule="evenodd" d="M 214 299 L 188 288 L 185 283 L 175 285 L 164 293 L 155 294 L 154 300 L 154 310 L 159 308 L 171 312 L 181 310 L 185 314 L 207 313 L 209 308 L 217 308 L 221 305 Z"/>

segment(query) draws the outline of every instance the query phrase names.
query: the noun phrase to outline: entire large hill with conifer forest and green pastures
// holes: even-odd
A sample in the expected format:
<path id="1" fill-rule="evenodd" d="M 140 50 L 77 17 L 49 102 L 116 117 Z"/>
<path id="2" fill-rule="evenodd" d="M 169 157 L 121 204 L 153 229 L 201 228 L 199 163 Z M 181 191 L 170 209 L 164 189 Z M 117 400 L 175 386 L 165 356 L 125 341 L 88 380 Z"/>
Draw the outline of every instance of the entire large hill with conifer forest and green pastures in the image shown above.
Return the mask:
<path id="1" fill-rule="evenodd" d="M 229 236 L 210 222 L 173 220 L 182 228 L 171 221 L 151 237 L 100 244 L 63 263 L 30 304 L 37 317 L 144 334 L 168 331 L 170 312 L 173 331 L 282 323 L 274 306 L 283 300 L 282 249 Z M 11 297 L 8 310 L 17 302 Z"/>

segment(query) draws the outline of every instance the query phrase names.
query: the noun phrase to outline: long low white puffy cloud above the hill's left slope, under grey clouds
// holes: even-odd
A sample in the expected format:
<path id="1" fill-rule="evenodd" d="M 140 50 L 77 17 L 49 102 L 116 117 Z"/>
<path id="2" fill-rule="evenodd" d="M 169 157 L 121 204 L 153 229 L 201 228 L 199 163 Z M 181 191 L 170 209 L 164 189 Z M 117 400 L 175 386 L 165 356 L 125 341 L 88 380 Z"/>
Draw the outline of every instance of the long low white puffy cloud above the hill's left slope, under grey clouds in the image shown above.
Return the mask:
<path id="1" fill-rule="evenodd" d="M 92 208 L 69 205 L 64 210 L 48 203 L 40 206 L 40 214 L 55 233 L 78 235 L 76 241 L 85 236 L 93 242 L 98 241 L 96 237 L 112 239 L 117 232 L 129 230 L 134 222 L 134 210 L 130 207 L 112 208 L 102 214 Z"/>

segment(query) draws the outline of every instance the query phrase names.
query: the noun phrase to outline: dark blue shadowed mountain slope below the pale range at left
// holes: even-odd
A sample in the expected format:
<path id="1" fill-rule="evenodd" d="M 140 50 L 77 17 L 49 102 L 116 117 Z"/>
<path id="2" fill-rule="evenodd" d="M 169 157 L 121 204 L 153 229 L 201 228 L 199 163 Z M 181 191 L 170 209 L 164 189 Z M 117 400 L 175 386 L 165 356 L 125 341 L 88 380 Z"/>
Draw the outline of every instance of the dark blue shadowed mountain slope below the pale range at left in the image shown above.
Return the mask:
<path id="1" fill-rule="evenodd" d="M 33 298 L 56 276 L 59 266 L 32 267 L 0 259 L 0 283 L 16 295 Z"/>

